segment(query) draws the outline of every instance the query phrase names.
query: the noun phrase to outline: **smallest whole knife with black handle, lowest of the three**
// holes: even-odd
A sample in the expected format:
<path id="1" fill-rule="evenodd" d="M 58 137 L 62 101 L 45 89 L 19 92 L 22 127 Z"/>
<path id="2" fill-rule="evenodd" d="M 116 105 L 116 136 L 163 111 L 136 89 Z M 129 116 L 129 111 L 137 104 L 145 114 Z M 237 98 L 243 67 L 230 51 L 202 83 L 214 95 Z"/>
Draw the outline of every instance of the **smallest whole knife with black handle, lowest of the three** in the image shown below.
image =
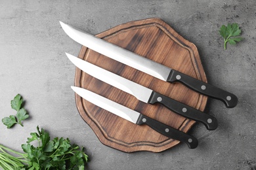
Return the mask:
<path id="1" fill-rule="evenodd" d="M 129 120 L 130 122 L 138 125 L 146 124 L 166 137 L 188 144 L 189 148 L 196 148 L 198 146 L 198 140 L 191 135 L 179 131 L 171 126 L 167 126 L 166 124 L 140 114 L 139 112 L 129 109 L 128 107 L 124 107 L 119 103 L 111 101 L 110 99 L 102 97 L 101 95 L 93 93 L 89 90 L 75 86 L 72 86 L 71 88 L 75 93 L 83 97 L 83 99 L 97 105 L 98 107 L 101 107 L 104 110 L 108 110 L 109 112 L 112 112 L 125 120 Z"/>

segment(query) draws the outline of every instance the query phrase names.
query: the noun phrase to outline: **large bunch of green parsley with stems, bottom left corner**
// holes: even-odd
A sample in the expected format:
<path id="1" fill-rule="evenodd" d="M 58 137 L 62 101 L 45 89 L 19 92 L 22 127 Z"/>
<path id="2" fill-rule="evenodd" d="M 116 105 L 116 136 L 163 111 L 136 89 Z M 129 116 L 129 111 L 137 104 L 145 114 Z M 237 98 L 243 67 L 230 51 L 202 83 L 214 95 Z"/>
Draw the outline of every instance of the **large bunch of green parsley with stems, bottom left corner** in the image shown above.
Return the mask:
<path id="1" fill-rule="evenodd" d="M 85 148 L 70 144 L 70 140 L 54 138 L 44 129 L 30 133 L 26 144 L 22 144 L 24 153 L 16 152 L 0 144 L 0 167 L 3 169 L 85 169 L 88 156 Z M 37 146 L 31 143 L 37 141 Z M 13 156 L 12 154 L 17 156 Z"/>

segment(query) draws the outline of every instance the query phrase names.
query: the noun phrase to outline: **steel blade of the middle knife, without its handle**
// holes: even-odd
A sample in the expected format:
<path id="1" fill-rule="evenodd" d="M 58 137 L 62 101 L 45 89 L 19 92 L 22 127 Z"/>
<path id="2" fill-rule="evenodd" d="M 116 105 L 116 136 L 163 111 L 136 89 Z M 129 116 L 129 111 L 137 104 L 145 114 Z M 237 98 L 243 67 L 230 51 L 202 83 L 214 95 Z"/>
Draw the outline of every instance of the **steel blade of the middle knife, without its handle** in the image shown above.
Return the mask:
<path id="1" fill-rule="evenodd" d="M 130 93 L 145 103 L 148 103 L 148 99 L 150 99 L 150 95 L 152 94 L 153 90 L 141 86 L 131 80 L 123 78 L 122 76 L 118 76 L 110 71 L 106 71 L 92 63 L 84 61 L 83 59 L 79 59 L 71 54 L 66 53 L 70 61 L 74 63 L 76 67 L 84 71 L 85 73 L 94 76 L 95 78 L 102 80 L 124 92 Z"/>

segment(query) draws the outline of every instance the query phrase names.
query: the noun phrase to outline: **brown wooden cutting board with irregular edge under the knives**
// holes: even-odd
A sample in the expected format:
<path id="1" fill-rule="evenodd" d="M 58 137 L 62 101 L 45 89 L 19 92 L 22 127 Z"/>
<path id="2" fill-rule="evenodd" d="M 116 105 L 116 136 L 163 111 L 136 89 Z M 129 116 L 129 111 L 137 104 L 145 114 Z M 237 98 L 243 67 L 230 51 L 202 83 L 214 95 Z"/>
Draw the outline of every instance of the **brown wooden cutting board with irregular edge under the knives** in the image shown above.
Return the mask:
<path id="1" fill-rule="evenodd" d="M 158 18 L 117 25 L 96 36 L 135 52 L 140 56 L 207 82 L 196 46 L 186 41 L 169 25 Z M 185 103 L 190 107 L 202 111 L 205 109 L 207 97 L 186 88 L 182 84 L 164 82 L 102 56 L 85 46 L 82 46 L 78 57 Z M 133 95 L 97 80 L 80 69 L 75 71 L 75 86 L 91 90 L 185 133 L 195 124 L 193 120 L 179 116 L 162 105 L 143 103 Z M 100 107 L 81 99 L 79 95 L 75 95 L 75 101 L 83 120 L 93 129 L 100 142 L 107 146 L 123 152 L 140 150 L 161 152 L 180 143 L 161 135 L 146 125 L 133 124 L 111 112 L 100 109 Z M 184 145 L 187 147 L 186 144 Z"/>

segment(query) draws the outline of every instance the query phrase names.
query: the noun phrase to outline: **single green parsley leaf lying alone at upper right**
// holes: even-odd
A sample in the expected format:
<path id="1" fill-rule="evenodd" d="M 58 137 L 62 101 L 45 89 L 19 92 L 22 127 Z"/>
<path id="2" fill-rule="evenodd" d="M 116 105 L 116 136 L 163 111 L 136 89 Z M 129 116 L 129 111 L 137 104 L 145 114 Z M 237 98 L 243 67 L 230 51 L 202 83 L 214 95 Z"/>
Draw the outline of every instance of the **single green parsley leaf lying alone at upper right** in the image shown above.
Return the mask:
<path id="1" fill-rule="evenodd" d="M 222 25 L 219 34 L 224 38 L 224 49 L 226 50 L 226 43 L 235 45 L 237 42 L 243 40 L 242 37 L 236 37 L 241 34 L 241 29 L 237 23 Z"/>

